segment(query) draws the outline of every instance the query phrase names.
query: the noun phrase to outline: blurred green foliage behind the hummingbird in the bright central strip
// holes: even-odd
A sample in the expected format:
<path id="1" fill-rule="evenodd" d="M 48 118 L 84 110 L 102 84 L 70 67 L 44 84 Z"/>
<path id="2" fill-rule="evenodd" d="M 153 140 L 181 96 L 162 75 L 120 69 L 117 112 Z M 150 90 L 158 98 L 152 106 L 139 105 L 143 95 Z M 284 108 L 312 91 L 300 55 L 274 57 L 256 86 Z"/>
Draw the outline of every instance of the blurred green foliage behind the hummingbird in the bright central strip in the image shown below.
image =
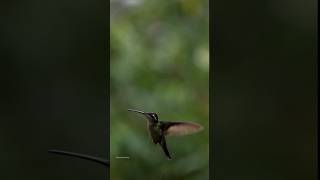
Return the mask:
<path id="1" fill-rule="evenodd" d="M 111 0 L 110 9 L 111 179 L 208 179 L 208 1 Z M 169 161 L 127 108 L 205 129 L 167 138 Z"/>

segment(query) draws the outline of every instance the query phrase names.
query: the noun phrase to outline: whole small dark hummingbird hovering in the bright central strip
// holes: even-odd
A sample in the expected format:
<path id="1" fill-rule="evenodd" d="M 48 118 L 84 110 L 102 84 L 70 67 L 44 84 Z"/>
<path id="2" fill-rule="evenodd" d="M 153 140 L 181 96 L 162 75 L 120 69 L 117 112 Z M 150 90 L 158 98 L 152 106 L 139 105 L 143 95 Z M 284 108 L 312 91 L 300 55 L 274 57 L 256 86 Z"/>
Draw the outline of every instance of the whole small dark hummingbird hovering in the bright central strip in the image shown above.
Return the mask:
<path id="1" fill-rule="evenodd" d="M 148 130 L 153 143 L 161 146 L 168 159 L 172 159 L 172 157 L 166 144 L 167 136 L 183 136 L 203 129 L 203 126 L 193 122 L 159 121 L 157 113 L 154 112 L 143 112 L 135 109 L 128 109 L 128 111 L 143 114 L 147 118 Z"/>

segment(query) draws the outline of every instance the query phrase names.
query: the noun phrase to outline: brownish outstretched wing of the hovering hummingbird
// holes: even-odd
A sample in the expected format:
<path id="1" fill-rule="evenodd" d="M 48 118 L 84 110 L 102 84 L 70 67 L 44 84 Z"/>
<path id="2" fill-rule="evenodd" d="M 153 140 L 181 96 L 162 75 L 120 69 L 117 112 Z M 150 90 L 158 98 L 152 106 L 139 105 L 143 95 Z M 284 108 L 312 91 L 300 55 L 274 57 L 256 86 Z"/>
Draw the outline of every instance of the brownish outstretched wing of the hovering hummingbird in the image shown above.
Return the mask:
<path id="1" fill-rule="evenodd" d="M 193 122 L 164 122 L 166 136 L 183 136 L 193 134 L 203 129 L 200 124 Z"/>

